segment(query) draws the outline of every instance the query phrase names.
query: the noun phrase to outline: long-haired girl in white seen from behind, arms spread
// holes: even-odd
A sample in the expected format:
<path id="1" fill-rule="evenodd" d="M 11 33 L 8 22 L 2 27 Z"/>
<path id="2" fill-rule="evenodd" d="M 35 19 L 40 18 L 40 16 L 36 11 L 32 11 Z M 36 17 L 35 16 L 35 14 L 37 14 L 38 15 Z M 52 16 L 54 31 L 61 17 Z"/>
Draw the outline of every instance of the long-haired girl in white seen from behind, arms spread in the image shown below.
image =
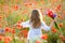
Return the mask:
<path id="1" fill-rule="evenodd" d="M 40 11 L 35 9 L 31 12 L 30 19 L 27 22 L 23 22 L 21 26 L 23 26 L 23 28 L 29 27 L 27 39 L 30 43 L 30 40 L 35 40 L 36 38 L 40 38 L 42 35 L 41 29 L 49 31 L 53 25 L 53 22 L 50 26 L 47 26 L 46 23 L 42 20 Z"/>

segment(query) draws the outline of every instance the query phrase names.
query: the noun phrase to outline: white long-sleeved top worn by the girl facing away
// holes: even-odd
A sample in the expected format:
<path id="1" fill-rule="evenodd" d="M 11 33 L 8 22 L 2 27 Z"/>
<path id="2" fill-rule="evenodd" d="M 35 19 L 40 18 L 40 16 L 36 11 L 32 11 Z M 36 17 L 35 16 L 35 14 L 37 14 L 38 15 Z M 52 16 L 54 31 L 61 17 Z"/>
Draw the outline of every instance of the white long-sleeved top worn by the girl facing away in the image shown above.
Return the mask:
<path id="1" fill-rule="evenodd" d="M 28 35 L 27 35 L 27 39 L 28 40 L 32 40 L 35 38 L 38 38 L 38 37 L 41 37 L 42 32 L 41 32 L 41 29 L 46 30 L 46 31 L 49 31 L 50 30 L 50 27 L 46 25 L 44 22 L 41 22 L 41 26 L 37 29 L 32 28 L 31 24 L 29 24 L 29 20 L 27 22 L 23 22 L 21 24 L 21 26 L 24 27 L 29 27 L 29 31 L 28 31 Z"/>

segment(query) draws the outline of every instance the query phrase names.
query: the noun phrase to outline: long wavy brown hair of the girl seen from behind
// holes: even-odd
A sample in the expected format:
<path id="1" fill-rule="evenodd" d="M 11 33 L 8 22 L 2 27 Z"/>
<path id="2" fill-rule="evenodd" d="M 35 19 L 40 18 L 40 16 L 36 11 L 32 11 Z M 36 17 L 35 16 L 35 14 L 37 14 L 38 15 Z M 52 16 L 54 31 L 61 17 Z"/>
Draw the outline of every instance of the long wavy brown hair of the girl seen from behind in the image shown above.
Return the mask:
<path id="1" fill-rule="evenodd" d="M 32 10 L 31 16 L 30 16 L 30 23 L 32 24 L 34 28 L 40 27 L 41 18 L 40 18 L 40 11 L 39 10 Z"/>

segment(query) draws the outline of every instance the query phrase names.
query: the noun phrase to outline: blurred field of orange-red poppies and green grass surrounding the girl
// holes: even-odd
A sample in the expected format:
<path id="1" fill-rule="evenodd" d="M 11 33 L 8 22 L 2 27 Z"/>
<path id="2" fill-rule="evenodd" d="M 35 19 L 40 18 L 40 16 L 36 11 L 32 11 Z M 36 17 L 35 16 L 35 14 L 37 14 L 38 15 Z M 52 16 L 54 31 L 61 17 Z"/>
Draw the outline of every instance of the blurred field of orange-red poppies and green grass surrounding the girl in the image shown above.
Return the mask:
<path id="1" fill-rule="evenodd" d="M 32 9 L 48 26 L 56 16 L 50 31 L 41 30 L 42 42 L 35 43 L 65 43 L 65 0 L 0 0 L 0 43 L 27 43 L 29 28 L 15 24 L 28 20 Z"/>

